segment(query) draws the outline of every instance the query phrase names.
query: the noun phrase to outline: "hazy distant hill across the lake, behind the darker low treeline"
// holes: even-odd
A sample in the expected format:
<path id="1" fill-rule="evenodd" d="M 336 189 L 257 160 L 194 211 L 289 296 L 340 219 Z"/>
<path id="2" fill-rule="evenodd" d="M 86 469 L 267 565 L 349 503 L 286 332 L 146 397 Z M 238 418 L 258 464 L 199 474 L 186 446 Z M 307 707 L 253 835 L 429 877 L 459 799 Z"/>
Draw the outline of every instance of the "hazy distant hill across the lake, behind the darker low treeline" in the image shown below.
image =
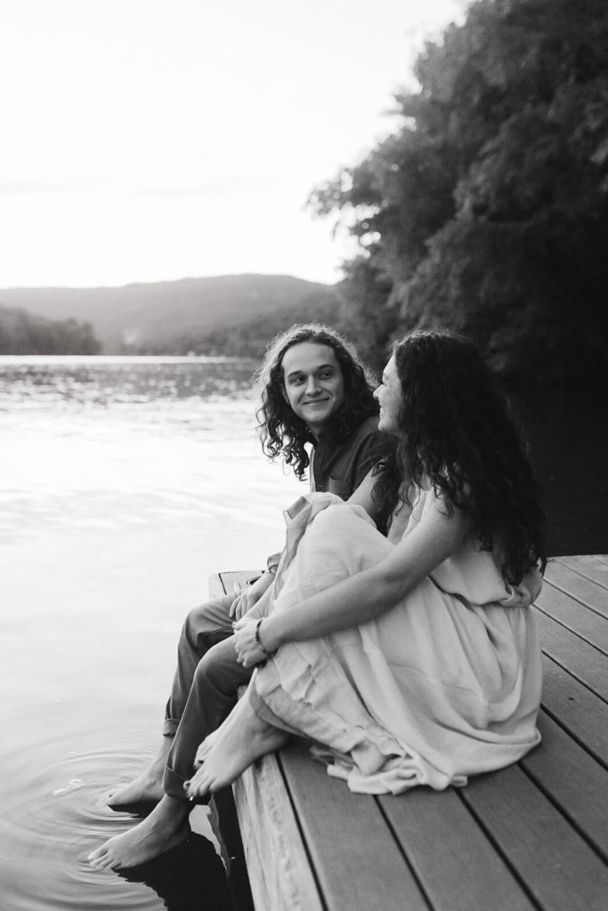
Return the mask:
<path id="1" fill-rule="evenodd" d="M 0 291 L 0 307 L 20 308 L 46 320 L 89 323 L 106 354 L 258 356 L 275 333 L 293 322 L 335 322 L 337 306 L 334 286 L 287 275 Z"/>

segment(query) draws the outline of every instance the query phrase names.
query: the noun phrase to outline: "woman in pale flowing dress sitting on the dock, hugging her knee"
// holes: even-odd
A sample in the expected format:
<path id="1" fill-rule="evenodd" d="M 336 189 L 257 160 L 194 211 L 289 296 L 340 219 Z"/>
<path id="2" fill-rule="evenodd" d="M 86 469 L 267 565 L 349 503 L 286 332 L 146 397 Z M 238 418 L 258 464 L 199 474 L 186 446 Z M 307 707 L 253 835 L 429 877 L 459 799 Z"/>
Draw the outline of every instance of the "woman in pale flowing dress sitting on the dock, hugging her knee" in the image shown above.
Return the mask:
<path id="1" fill-rule="evenodd" d="M 288 732 L 368 793 L 464 784 L 540 740 L 543 515 L 506 404 L 474 346 L 443 332 L 398 343 L 376 396 L 397 454 L 352 507 L 313 496 L 295 517 L 295 537 L 308 527 L 270 615 L 237 624 L 242 663 L 266 663 L 201 744 L 191 798 Z M 387 540 L 355 505 L 374 497 Z"/>

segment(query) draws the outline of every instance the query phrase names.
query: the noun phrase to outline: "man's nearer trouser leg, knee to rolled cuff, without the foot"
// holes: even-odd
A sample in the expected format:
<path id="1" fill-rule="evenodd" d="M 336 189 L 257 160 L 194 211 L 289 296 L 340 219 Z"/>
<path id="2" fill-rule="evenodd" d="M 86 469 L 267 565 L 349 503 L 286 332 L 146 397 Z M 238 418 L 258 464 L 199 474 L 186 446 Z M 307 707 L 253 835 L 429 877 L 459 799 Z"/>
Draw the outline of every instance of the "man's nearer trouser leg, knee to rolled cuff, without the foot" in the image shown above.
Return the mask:
<path id="1" fill-rule="evenodd" d="M 238 688 L 251 677 L 252 669 L 243 668 L 236 660 L 232 639 L 214 645 L 201 658 L 170 749 L 163 777 L 165 793 L 183 796 L 183 785 L 194 772 L 199 744 L 220 726 L 236 702 Z"/>

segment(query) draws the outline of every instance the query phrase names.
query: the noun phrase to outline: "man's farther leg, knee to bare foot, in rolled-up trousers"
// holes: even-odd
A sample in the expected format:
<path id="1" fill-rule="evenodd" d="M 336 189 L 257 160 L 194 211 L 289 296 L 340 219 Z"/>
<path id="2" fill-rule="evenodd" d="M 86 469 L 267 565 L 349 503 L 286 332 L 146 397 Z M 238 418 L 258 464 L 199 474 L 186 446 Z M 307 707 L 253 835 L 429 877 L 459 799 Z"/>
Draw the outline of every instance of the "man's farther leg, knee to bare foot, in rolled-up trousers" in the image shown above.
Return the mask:
<path id="1" fill-rule="evenodd" d="M 199 661 L 216 643 L 232 636 L 232 619 L 229 617 L 231 605 L 232 596 L 224 595 L 223 598 L 194 608 L 188 614 L 180 632 L 177 669 L 165 710 L 159 750 L 149 766 L 134 781 L 109 794 L 106 802 L 108 806 L 160 801 L 164 793 L 162 777 L 165 765 Z"/>

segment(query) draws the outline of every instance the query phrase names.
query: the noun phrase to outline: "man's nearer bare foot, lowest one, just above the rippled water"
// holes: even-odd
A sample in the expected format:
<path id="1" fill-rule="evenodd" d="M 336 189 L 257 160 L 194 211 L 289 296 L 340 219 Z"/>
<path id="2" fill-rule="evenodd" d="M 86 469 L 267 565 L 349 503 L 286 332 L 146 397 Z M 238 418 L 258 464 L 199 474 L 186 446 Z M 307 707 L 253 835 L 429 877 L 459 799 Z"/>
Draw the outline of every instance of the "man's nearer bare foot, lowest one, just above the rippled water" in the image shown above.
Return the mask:
<path id="1" fill-rule="evenodd" d="M 97 870 L 145 864 L 186 841 L 190 812 L 191 804 L 165 794 L 149 816 L 129 831 L 108 838 L 88 855 L 88 862 Z"/>

